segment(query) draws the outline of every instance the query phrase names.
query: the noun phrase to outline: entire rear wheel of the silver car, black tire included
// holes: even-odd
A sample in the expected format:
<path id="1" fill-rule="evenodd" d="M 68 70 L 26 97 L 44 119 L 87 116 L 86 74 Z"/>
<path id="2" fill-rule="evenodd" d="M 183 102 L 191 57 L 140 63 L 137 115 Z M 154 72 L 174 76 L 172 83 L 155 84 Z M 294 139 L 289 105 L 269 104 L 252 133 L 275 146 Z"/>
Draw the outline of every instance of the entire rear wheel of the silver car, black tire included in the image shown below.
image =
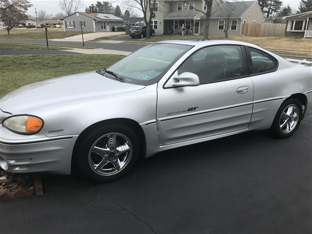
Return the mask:
<path id="1" fill-rule="evenodd" d="M 287 138 L 292 136 L 298 129 L 302 117 L 302 106 L 299 100 L 291 98 L 286 100 L 278 109 L 271 132 L 277 138 Z"/>

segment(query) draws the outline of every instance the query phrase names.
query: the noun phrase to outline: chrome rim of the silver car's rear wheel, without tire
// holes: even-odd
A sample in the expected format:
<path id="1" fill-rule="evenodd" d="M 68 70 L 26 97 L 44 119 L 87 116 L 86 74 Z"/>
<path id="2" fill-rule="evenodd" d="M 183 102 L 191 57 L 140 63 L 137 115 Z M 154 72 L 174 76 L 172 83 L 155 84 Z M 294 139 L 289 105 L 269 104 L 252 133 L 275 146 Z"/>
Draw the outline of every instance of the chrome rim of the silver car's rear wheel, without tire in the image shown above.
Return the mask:
<path id="1" fill-rule="evenodd" d="M 291 104 L 284 109 L 279 121 L 279 128 L 282 133 L 292 132 L 298 123 L 299 113 L 299 109 L 295 104 Z"/>

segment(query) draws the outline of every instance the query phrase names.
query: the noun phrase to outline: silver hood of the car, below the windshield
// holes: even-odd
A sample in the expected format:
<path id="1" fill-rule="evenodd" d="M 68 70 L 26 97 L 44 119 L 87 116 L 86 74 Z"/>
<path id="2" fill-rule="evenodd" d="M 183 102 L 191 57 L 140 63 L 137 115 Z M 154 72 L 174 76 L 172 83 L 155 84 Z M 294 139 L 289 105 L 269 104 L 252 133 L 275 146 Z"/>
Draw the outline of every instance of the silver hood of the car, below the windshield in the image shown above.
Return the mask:
<path id="1" fill-rule="evenodd" d="M 23 86 L 0 99 L 2 111 L 28 114 L 48 105 L 77 102 L 136 91 L 145 86 L 123 83 L 96 72 L 48 79 Z"/>

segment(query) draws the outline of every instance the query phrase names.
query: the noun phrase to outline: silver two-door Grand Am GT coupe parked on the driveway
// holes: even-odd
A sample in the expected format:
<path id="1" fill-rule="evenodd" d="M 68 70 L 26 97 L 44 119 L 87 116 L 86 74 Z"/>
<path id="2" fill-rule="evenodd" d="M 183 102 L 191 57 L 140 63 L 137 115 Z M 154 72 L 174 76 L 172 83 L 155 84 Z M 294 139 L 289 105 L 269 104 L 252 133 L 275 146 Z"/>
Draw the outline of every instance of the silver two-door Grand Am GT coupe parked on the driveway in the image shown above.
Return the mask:
<path id="1" fill-rule="evenodd" d="M 107 69 L 3 97 L 0 166 L 56 174 L 77 167 L 106 182 L 140 156 L 179 146 L 263 129 L 290 137 L 312 112 L 310 65 L 239 41 L 154 43 Z"/>

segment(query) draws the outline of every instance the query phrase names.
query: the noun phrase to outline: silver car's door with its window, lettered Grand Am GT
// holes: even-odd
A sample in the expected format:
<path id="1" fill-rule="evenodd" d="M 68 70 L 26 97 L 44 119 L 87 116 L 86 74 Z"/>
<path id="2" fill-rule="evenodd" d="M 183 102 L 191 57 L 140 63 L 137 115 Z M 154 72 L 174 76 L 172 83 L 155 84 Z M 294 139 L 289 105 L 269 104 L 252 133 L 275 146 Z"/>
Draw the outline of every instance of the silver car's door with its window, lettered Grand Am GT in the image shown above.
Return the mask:
<path id="1" fill-rule="evenodd" d="M 184 72 L 199 77 L 195 87 L 171 87 Z M 245 49 L 218 45 L 197 50 L 164 87 L 157 87 L 157 131 L 160 145 L 245 130 L 251 121 L 254 86 L 248 76 Z"/>

